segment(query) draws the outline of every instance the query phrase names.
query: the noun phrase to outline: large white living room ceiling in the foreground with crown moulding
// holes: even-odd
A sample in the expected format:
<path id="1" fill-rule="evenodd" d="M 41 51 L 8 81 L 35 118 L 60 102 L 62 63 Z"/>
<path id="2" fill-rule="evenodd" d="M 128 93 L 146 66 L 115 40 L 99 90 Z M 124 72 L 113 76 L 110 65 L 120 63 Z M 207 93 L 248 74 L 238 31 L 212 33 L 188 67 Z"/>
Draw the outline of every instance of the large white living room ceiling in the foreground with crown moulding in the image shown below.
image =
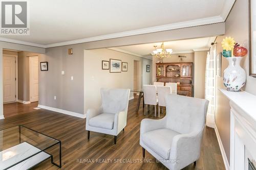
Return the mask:
<path id="1" fill-rule="evenodd" d="M 233 3 L 234 0 L 33 0 L 29 1 L 30 35 L 1 36 L 0 40 L 49 47 L 82 38 L 88 42 L 204 25 L 224 21 Z"/>

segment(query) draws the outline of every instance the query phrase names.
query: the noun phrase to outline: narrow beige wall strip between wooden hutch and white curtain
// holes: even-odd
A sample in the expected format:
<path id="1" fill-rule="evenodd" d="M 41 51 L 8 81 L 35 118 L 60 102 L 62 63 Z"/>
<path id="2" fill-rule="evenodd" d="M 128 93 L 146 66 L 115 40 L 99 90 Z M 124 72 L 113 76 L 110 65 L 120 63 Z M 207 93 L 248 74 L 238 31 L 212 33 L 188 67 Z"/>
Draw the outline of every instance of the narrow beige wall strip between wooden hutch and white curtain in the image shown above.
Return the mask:
<path id="1" fill-rule="evenodd" d="M 194 60 L 194 96 L 204 99 L 205 93 L 205 66 L 207 51 L 195 52 Z"/>

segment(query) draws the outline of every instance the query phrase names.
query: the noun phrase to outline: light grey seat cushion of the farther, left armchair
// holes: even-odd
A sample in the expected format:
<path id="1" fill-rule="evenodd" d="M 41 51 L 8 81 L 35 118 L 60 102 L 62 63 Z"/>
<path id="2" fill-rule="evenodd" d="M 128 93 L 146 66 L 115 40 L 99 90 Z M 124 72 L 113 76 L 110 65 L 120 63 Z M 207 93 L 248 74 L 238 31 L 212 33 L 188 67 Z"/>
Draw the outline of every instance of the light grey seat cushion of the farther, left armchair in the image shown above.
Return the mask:
<path id="1" fill-rule="evenodd" d="M 101 113 L 89 120 L 89 125 L 96 128 L 113 129 L 115 114 Z"/>

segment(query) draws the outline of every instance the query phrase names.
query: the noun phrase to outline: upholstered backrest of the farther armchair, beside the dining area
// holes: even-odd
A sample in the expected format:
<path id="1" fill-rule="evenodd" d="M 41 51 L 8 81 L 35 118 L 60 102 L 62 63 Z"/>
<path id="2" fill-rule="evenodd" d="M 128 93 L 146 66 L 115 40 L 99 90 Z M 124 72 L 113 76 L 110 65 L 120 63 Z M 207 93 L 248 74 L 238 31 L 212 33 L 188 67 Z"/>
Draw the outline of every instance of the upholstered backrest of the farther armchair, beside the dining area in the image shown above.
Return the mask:
<path id="1" fill-rule="evenodd" d="M 101 89 L 103 113 L 119 113 L 128 109 L 130 89 Z"/>

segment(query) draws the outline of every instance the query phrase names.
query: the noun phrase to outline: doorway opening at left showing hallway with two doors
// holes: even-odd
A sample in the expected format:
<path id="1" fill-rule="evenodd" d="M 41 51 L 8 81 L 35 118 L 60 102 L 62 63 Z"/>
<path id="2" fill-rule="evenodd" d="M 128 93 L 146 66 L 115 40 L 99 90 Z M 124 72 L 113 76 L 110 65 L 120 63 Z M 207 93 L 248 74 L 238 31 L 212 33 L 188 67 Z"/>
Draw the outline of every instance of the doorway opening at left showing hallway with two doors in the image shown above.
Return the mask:
<path id="1" fill-rule="evenodd" d="M 28 113 L 38 106 L 38 56 L 3 49 L 4 117 Z"/>

